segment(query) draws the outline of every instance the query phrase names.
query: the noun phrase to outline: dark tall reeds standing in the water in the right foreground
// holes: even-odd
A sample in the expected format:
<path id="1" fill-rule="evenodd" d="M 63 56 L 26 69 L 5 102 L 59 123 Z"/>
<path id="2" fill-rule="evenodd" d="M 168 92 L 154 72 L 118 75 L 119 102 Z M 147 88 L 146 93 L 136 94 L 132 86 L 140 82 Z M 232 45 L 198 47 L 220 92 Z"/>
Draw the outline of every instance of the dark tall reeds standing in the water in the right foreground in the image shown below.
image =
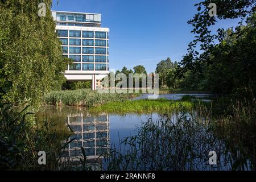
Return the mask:
<path id="1" fill-rule="evenodd" d="M 210 118 L 202 105 L 176 118 L 150 118 L 137 135 L 112 147 L 105 169 L 255 170 L 255 108 L 255 102 L 237 101 L 230 106 L 232 114 L 221 118 Z M 217 152 L 217 165 L 209 165 L 209 151 Z"/>

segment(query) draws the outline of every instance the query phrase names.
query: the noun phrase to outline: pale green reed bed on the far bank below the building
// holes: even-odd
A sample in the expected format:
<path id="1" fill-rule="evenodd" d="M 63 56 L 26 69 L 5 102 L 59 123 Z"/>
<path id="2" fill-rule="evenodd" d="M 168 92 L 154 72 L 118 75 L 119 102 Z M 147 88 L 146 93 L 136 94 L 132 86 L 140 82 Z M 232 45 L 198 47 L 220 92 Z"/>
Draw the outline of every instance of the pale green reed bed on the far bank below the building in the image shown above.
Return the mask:
<path id="1" fill-rule="evenodd" d="M 44 104 L 94 107 L 112 101 L 125 101 L 135 97 L 135 94 L 98 93 L 89 89 L 53 91 L 46 95 Z"/>

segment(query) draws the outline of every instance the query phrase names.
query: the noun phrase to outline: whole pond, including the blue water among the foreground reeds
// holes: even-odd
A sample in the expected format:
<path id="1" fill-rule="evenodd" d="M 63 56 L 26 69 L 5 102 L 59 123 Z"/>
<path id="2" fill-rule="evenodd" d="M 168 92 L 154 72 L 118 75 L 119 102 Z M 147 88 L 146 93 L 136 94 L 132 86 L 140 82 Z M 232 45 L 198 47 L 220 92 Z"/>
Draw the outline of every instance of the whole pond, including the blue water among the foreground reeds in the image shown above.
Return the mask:
<path id="1" fill-rule="evenodd" d="M 209 94 L 163 94 L 160 95 L 160 98 L 180 100 L 184 96 L 189 96 L 192 100 L 200 99 L 207 102 L 214 100 L 214 98 L 217 97 L 216 95 Z M 145 97 L 147 97 L 147 95 L 142 95 L 135 99 L 143 99 Z M 196 111 L 193 111 L 192 113 L 176 113 L 175 111 L 170 111 L 170 113 L 125 115 L 98 113 L 95 115 L 90 114 L 88 110 L 80 107 L 46 106 L 37 113 L 37 116 L 39 118 L 45 118 L 47 116 L 49 120 L 55 123 L 55 127 L 59 133 L 73 134 L 68 138 L 68 140 L 74 140 L 69 143 L 65 149 L 65 155 L 71 156 L 70 159 L 73 166 L 81 166 L 81 147 L 83 147 L 88 163 L 93 166 L 93 169 L 111 169 L 104 167 L 106 166 L 106 163 L 109 163 L 104 159 L 104 155 L 112 153 L 114 148 L 115 151 L 119 151 L 120 153 L 123 152 L 123 155 L 125 156 L 134 150 L 134 148 L 132 149 L 133 146 L 131 146 L 131 144 L 134 144 L 135 148 L 138 148 L 143 139 L 148 140 L 147 146 L 144 146 L 144 148 L 146 148 L 146 152 L 144 151 L 144 153 L 147 156 L 154 155 L 154 160 L 156 156 L 158 160 L 165 160 L 166 158 L 169 159 L 170 156 L 173 156 L 170 161 L 166 160 L 173 164 L 171 167 L 167 167 L 169 164 L 165 164 L 165 166 L 161 166 L 161 164 L 160 167 L 159 164 L 154 164 L 154 168 L 157 169 L 230 170 L 234 168 L 234 165 L 237 165 L 236 169 L 250 170 L 252 169 L 252 163 L 255 162 L 255 159 L 251 159 L 252 151 L 248 152 L 248 148 L 245 146 L 242 146 L 242 149 L 237 148 L 237 146 L 232 146 L 232 143 L 230 144 L 225 141 L 225 137 L 230 138 L 233 137 L 233 135 L 223 135 L 221 132 L 224 132 L 224 129 L 220 129 L 218 127 L 211 128 L 208 125 L 205 125 L 207 118 L 204 117 L 201 120 L 202 123 L 194 122 L 193 118 L 198 117 L 198 113 Z M 162 122 L 160 122 L 160 124 L 159 119 Z M 185 119 L 185 122 L 180 122 L 182 119 Z M 171 121 L 172 126 L 175 126 L 179 130 L 175 130 L 175 127 L 171 128 L 169 126 L 164 126 L 163 128 L 163 125 L 165 125 L 163 121 L 167 120 Z M 187 124 L 184 125 L 186 122 L 191 123 L 189 127 Z M 141 126 L 145 126 L 143 123 L 147 123 L 147 127 L 154 126 L 155 131 L 150 130 L 147 133 L 151 138 L 143 136 L 144 138 L 140 140 L 140 142 L 136 143 L 135 140 L 133 140 L 134 143 L 127 142 L 127 137 L 131 137 L 130 139 L 133 139 L 133 136 L 138 135 Z M 191 131 L 191 128 L 193 128 L 193 131 Z M 211 129 L 210 132 L 208 131 L 209 128 Z M 156 132 L 158 129 L 160 134 Z M 156 137 L 155 139 L 154 135 L 158 135 L 158 138 Z M 161 141 L 163 139 L 167 139 L 167 137 L 172 137 L 172 141 L 170 143 L 167 142 L 161 144 Z M 156 140 L 155 143 L 153 143 L 154 141 L 152 141 L 152 138 Z M 122 143 L 125 139 L 126 143 L 129 144 L 126 145 Z M 154 148 L 158 145 L 157 143 L 162 146 L 162 148 Z M 183 147 L 185 148 L 188 146 L 190 147 L 189 150 L 183 149 Z M 250 150 L 252 149 L 253 148 L 250 148 Z M 218 164 L 213 166 L 209 165 L 208 162 L 208 152 L 212 150 L 216 151 L 218 155 Z M 155 153 L 152 153 L 151 151 L 155 151 Z M 244 151 L 246 153 L 243 153 Z M 166 152 L 170 155 L 165 156 L 162 152 Z M 196 153 L 196 155 L 192 157 L 191 154 L 193 153 Z M 139 155 L 141 155 L 141 151 L 139 152 Z M 112 156 L 111 158 L 113 159 L 115 157 L 116 156 Z M 120 156 L 118 156 L 118 158 L 120 158 Z M 187 160 L 192 160 L 193 163 L 188 163 Z M 149 163 L 152 163 L 152 161 Z M 118 166 L 121 164 L 112 163 L 111 165 Z M 147 162 L 147 164 L 144 165 L 144 168 L 139 169 L 151 168 L 152 164 L 148 164 Z M 134 168 L 131 167 L 130 169 Z"/>

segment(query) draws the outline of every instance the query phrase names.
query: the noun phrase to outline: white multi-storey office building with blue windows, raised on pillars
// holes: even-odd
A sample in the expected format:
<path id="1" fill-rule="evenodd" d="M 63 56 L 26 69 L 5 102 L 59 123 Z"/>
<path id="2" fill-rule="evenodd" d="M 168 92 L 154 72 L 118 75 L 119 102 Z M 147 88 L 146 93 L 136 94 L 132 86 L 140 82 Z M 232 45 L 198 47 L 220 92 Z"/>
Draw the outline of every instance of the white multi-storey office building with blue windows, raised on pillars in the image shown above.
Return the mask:
<path id="1" fill-rule="evenodd" d="M 52 11 L 63 55 L 73 59 L 64 76 L 67 80 L 97 81 L 109 73 L 109 28 L 101 27 L 101 14 Z"/>

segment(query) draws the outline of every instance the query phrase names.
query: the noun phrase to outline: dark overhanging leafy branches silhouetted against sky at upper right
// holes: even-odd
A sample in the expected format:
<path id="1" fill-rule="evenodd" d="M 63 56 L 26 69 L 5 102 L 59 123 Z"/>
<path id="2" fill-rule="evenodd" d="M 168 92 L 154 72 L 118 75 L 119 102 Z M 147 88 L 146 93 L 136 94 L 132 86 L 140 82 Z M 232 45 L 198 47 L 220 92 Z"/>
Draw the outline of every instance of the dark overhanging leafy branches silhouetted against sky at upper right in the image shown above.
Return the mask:
<path id="1" fill-rule="evenodd" d="M 217 5 L 217 17 L 209 16 L 209 4 L 216 3 Z M 255 0 L 204 0 L 197 3 L 197 10 L 199 11 L 188 24 L 191 24 L 194 28 L 191 31 L 195 34 L 195 39 L 188 45 L 188 53 L 180 61 L 179 69 L 177 71 L 178 76 L 183 76 L 187 71 L 201 72 L 201 63 L 212 64 L 210 61 L 210 54 L 214 46 L 218 42 L 222 42 L 224 39 L 224 30 L 218 29 L 216 33 L 212 33 L 210 26 L 213 26 L 218 19 L 234 19 L 242 18 L 242 21 L 255 10 Z M 237 34 L 241 30 L 241 23 L 236 27 Z M 199 45 L 200 44 L 200 45 Z M 200 46 L 200 50 L 203 53 L 196 51 L 196 48 Z"/>

